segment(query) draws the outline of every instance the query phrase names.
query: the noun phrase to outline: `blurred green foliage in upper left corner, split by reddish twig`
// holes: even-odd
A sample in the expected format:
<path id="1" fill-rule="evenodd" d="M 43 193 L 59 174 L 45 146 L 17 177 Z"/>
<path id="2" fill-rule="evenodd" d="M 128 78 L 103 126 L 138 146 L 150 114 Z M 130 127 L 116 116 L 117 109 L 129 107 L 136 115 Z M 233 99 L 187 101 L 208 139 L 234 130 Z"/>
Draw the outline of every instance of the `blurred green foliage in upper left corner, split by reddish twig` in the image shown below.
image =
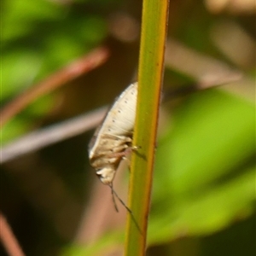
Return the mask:
<path id="1" fill-rule="evenodd" d="M 12 0 L 2 5 L 2 104 L 84 55 L 106 37 L 101 13 L 84 15 L 75 2 Z M 24 133 L 37 116 L 49 112 L 54 104 L 53 95 L 32 103 L 21 119 L 11 120 L 5 127 L 2 143 Z"/>

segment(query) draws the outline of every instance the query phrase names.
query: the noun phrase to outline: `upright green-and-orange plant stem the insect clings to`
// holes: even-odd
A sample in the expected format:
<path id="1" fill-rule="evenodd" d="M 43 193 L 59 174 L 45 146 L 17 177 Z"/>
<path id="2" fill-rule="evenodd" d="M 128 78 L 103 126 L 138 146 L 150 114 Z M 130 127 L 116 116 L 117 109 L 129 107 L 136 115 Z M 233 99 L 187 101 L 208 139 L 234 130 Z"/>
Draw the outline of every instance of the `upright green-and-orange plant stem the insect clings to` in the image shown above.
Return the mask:
<path id="1" fill-rule="evenodd" d="M 131 157 L 129 206 L 137 225 L 128 216 L 125 255 L 145 255 L 148 212 L 154 168 L 155 137 L 158 126 L 160 88 L 166 44 L 168 0 L 144 0 L 138 72 L 137 119 Z M 141 231 L 141 232 L 140 232 Z"/>

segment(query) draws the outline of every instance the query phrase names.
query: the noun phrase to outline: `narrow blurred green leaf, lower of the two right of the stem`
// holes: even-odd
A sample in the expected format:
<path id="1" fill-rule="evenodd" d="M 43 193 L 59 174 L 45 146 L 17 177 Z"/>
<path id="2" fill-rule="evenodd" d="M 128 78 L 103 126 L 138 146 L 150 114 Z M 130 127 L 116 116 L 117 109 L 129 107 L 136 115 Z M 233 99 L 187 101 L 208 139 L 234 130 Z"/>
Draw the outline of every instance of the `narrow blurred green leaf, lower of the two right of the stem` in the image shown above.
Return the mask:
<path id="1" fill-rule="evenodd" d="M 149 243 L 172 241 L 180 236 L 206 236 L 224 229 L 253 212 L 255 168 L 223 185 L 202 191 L 194 198 L 172 201 L 166 194 L 149 222 Z"/>

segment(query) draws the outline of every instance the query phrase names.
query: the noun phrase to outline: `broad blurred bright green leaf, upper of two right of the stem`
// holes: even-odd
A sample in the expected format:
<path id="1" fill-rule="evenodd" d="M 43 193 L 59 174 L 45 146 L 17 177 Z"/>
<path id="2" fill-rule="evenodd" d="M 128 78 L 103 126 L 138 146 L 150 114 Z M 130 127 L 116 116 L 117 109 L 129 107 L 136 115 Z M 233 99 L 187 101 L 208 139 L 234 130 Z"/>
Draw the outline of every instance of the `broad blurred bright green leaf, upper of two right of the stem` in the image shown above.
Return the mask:
<path id="1" fill-rule="evenodd" d="M 218 90 L 196 94 L 177 109 L 173 129 L 160 141 L 160 169 L 176 194 L 228 174 L 253 154 L 254 108 Z"/>

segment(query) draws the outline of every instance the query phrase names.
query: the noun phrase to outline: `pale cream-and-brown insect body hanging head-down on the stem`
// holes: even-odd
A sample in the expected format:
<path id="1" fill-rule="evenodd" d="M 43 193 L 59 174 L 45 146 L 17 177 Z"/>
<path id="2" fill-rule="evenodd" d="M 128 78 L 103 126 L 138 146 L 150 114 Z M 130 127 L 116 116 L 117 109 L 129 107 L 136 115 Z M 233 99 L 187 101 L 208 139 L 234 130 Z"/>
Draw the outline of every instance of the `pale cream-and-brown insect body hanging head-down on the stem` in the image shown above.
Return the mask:
<path id="1" fill-rule="evenodd" d="M 96 169 L 102 183 L 111 188 L 125 150 L 131 148 L 136 105 L 137 83 L 134 83 L 115 100 L 89 144 L 90 165 Z"/>

